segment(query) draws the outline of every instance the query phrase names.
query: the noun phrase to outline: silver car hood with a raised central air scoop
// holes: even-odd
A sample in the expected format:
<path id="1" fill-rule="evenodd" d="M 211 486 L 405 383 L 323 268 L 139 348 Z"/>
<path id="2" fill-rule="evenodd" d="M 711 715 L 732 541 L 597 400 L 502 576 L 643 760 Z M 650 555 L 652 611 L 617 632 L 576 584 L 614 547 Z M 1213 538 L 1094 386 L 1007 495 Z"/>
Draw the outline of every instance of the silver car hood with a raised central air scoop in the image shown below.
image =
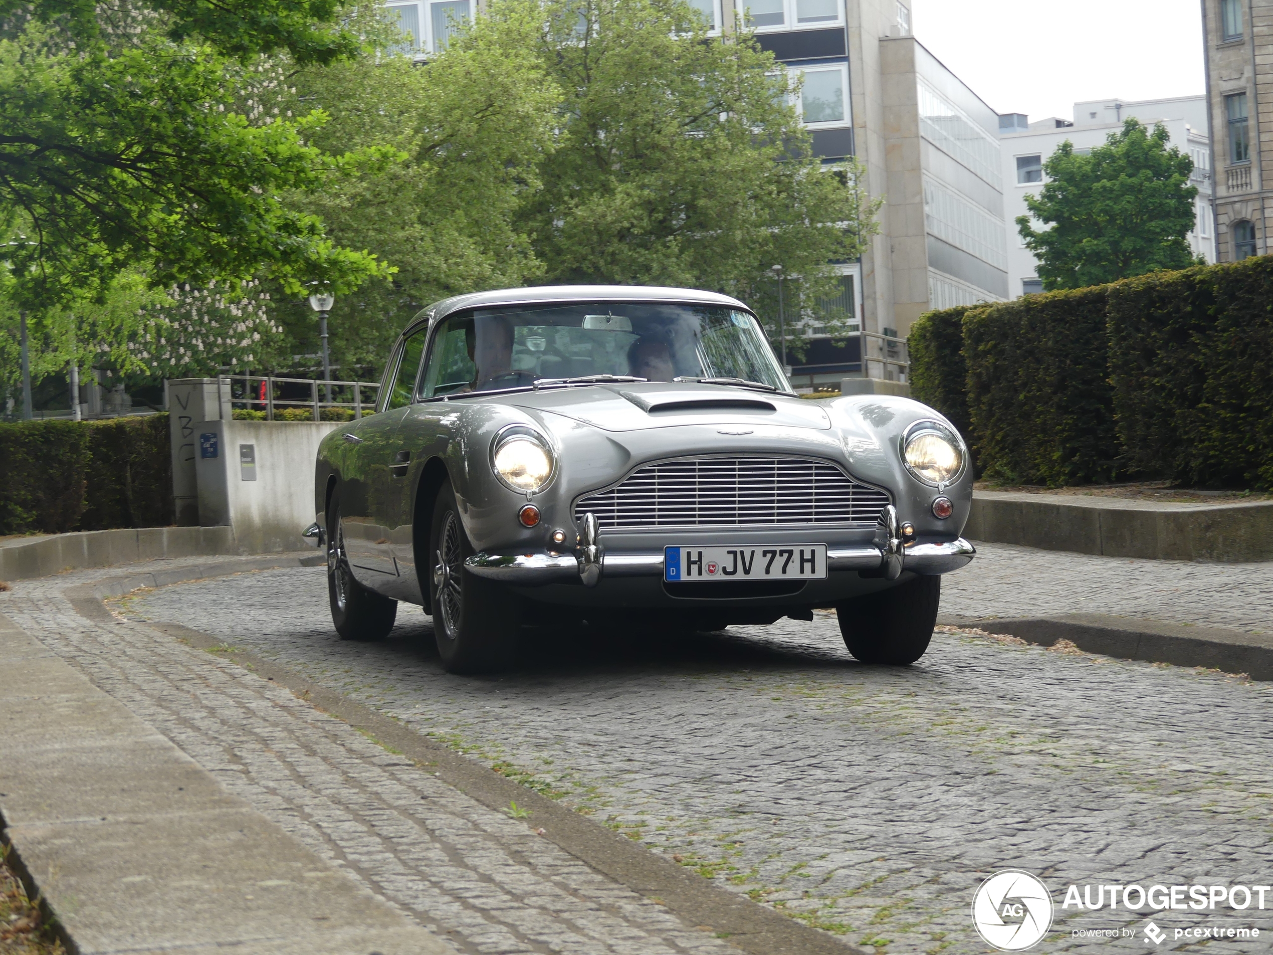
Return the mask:
<path id="1" fill-rule="evenodd" d="M 561 415 L 607 432 L 684 425 L 780 425 L 829 430 L 820 405 L 787 395 L 719 385 L 634 382 L 551 388 L 509 396 L 505 404 Z"/>

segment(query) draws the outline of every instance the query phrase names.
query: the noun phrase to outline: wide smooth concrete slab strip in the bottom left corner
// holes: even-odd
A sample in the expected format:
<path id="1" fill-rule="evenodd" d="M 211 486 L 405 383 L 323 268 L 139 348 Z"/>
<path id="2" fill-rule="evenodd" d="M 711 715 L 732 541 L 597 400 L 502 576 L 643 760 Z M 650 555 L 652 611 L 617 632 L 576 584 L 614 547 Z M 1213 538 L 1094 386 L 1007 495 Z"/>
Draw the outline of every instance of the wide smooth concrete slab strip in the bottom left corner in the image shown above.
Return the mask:
<path id="1" fill-rule="evenodd" d="M 0 666 L 3 838 L 71 955 L 451 951 L 3 614 Z"/>

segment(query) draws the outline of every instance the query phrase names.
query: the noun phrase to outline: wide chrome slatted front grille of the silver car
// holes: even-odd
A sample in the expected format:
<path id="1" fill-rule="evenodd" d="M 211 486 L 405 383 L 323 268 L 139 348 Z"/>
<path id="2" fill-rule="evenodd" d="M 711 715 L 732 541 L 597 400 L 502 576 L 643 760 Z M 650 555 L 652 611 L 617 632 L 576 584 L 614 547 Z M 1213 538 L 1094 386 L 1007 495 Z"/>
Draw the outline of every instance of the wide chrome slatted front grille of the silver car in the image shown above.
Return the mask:
<path id="1" fill-rule="evenodd" d="M 647 465 L 608 490 L 580 498 L 575 521 L 592 512 L 601 530 L 872 526 L 889 504 L 835 465 L 796 457 L 700 457 Z"/>

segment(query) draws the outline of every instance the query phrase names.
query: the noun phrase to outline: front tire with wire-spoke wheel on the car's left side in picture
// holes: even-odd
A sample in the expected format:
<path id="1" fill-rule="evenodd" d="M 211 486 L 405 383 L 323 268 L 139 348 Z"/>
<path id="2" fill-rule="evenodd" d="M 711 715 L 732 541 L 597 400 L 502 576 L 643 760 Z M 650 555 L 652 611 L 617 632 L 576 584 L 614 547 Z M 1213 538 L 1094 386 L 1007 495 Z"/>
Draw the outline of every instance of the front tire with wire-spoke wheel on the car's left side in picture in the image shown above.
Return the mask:
<path id="1" fill-rule="evenodd" d="M 465 569 L 474 546 L 451 484 L 443 484 L 429 534 L 429 596 L 438 656 L 448 674 L 504 670 L 517 656 L 521 600 Z"/>

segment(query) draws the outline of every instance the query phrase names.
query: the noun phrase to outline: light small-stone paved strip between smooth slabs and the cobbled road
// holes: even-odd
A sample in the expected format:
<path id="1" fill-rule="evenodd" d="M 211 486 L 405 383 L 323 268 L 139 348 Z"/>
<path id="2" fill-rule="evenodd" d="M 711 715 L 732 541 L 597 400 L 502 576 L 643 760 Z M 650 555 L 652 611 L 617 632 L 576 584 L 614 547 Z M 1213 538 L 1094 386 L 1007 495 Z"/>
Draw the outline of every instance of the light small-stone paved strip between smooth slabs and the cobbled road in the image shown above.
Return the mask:
<path id="1" fill-rule="evenodd" d="M 70 584 L 118 573 L 18 583 L 11 593 L 0 593 L 0 612 L 168 736 L 229 791 L 457 951 L 737 951 L 600 876 L 526 821 L 481 806 L 292 693 L 144 624 L 92 624 L 61 596 Z M 187 607 L 182 620 L 233 630 L 233 595 L 264 579 L 220 579 L 207 605 Z M 199 592 L 193 588 L 171 593 Z"/>

